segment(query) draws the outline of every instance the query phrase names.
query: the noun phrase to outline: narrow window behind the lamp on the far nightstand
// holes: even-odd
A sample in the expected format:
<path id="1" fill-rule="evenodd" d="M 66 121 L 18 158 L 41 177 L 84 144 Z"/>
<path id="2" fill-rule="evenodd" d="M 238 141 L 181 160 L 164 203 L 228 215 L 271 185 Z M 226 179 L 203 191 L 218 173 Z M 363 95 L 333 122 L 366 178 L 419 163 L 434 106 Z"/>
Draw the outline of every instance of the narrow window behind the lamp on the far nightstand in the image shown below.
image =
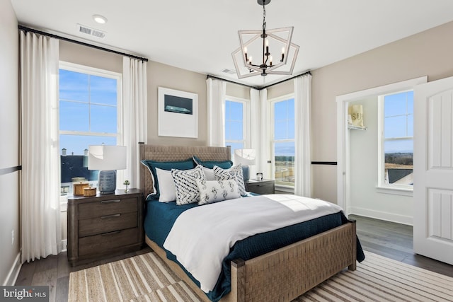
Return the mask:
<path id="1" fill-rule="evenodd" d="M 225 146 L 231 146 L 231 158 L 234 158 L 234 149 L 246 147 L 246 103 L 229 99 L 225 101 Z"/>

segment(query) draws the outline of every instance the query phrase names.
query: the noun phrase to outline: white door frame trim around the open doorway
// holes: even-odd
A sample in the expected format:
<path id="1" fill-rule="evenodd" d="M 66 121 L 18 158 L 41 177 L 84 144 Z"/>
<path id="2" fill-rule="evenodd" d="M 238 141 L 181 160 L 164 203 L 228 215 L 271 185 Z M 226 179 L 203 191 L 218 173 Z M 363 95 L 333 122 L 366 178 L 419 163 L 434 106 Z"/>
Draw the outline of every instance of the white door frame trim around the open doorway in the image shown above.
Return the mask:
<path id="1" fill-rule="evenodd" d="M 342 207 L 345 215 L 350 214 L 350 148 L 348 132 L 348 103 L 355 100 L 372 98 L 376 95 L 394 93 L 413 89 L 415 86 L 427 83 L 428 76 L 391 83 L 384 86 L 337 95 L 337 204 Z"/>

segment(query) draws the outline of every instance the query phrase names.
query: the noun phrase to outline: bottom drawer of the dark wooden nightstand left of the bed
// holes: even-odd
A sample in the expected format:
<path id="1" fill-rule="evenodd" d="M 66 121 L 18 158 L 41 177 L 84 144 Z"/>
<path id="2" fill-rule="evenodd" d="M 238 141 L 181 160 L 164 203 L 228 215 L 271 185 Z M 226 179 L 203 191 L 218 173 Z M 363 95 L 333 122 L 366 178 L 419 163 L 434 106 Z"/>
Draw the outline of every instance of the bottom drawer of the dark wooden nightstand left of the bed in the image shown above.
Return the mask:
<path id="1" fill-rule="evenodd" d="M 138 228 L 128 228 L 127 230 L 79 238 L 79 256 L 101 254 L 115 248 L 133 245 L 138 242 Z"/>

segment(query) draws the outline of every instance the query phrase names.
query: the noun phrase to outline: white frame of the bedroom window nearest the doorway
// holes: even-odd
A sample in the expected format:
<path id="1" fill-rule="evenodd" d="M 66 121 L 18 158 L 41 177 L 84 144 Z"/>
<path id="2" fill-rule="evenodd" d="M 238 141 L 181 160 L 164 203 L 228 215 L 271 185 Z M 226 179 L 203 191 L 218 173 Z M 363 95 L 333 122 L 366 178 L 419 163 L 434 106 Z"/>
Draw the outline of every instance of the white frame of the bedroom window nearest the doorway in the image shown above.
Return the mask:
<path id="1" fill-rule="evenodd" d="M 270 165 L 270 175 L 273 175 L 273 179 L 275 180 L 275 142 L 294 142 L 296 143 L 296 138 L 295 138 L 295 120 L 296 116 L 294 115 L 294 139 L 275 139 L 275 103 L 279 103 L 285 100 L 290 100 L 294 99 L 295 102 L 295 95 L 294 93 L 289 93 L 287 95 L 281 95 L 276 98 L 272 98 L 268 100 L 269 106 L 270 106 L 270 158 L 272 158 L 273 164 Z M 295 104 L 294 104 L 295 105 Z M 296 160 L 297 154 L 294 151 L 294 161 Z M 294 185 L 295 185 L 295 180 L 294 180 Z M 275 180 L 275 187 L 278 187 L 282 191 L 287 191 L 287 192 L 294 192 L 294 185 L 287 185 L 285 183 L 280 183 L 277 180 Z"/>

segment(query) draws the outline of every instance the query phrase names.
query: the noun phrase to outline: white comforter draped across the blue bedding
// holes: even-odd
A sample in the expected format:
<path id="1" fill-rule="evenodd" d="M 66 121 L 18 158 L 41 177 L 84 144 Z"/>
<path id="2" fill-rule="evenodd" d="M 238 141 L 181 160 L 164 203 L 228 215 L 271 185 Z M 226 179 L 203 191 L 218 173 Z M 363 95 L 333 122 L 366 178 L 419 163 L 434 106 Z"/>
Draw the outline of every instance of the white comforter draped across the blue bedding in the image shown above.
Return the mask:
<path id="1" fill-rule="evenodd" d="M 176 255 L 207 293 L 214 288 L 222 261 L 236 241 L 338 211 L 341 208 L 336 204 L 289 194 L 207 204 L 176 219 L 164 248 Z"/>

